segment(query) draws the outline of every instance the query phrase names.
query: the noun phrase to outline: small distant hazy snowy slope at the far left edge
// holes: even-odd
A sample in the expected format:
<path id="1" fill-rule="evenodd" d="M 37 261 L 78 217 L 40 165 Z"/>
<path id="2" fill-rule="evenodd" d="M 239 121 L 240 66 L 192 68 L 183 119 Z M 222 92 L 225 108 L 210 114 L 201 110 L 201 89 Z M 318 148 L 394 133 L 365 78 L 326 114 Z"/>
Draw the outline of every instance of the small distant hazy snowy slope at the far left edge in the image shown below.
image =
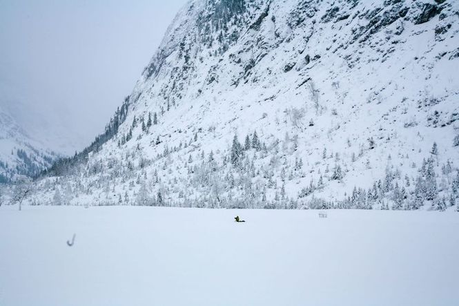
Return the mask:
<path id="1" fill-rule="evenodd" d="M 35 177 L 58 157 L 32 140 L 8 113 L 0 109 L 0 183 L 14 182 L 23 176 Z"/>

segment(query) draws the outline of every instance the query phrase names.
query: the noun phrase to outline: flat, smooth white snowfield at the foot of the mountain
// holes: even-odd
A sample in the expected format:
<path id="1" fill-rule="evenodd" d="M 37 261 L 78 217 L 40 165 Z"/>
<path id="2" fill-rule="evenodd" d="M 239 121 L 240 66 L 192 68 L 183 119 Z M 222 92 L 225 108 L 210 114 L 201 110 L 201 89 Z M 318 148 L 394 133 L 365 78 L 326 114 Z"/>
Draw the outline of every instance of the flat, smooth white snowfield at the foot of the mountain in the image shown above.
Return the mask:
<path id="1" fill-rule="evenodd" d="M 1 207 L 0 305 L 459 305 L 459 213 L 325 212 Z"/>

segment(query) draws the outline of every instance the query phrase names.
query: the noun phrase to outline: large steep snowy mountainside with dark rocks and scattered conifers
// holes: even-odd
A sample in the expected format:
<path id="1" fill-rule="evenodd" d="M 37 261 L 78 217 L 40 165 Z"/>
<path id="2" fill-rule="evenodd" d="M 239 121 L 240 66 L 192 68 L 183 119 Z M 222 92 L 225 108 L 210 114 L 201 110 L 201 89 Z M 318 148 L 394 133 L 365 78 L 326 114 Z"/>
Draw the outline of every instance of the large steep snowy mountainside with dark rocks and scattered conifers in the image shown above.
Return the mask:
<path id="1" fill-rule="evenodd" d="M 445 209 L 459 184 L 458 19 L 457 1 L 190 1 L 117 133 L 39 195 Z"/>

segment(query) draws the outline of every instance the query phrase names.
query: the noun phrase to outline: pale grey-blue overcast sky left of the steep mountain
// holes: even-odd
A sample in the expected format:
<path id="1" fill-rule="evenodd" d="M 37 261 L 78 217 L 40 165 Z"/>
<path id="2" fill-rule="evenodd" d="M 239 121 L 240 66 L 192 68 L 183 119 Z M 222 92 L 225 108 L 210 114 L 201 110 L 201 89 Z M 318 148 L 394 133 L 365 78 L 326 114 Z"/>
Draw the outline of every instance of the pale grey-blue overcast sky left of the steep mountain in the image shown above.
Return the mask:
<path id="1" fill-rule="evenodd" d="M 52 149 L 82 149 L 186 1 L 0 0 L 0 108 Z"/>

